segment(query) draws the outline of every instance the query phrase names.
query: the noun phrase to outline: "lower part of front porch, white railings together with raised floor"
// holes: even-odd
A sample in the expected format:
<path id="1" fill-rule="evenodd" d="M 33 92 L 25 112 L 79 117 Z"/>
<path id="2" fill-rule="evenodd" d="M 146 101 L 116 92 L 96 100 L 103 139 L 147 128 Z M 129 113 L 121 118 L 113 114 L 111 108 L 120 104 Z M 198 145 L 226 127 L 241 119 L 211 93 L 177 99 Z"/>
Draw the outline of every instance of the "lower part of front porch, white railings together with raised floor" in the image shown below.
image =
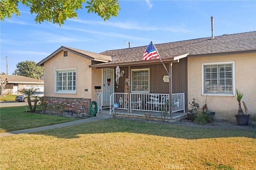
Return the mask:
<path id="1" fill-rule="evenodd" d="M 170 102 L 171 101 L 171 102 Z M 97 93 L 98 114 L 106 117 L 134 117 L 177 122 L 186 117 L 184 93 L 112 93 L 109 106 L 102 107 L 102 93 Z M 108 108 L 108 109 L 106 109 Z"/>

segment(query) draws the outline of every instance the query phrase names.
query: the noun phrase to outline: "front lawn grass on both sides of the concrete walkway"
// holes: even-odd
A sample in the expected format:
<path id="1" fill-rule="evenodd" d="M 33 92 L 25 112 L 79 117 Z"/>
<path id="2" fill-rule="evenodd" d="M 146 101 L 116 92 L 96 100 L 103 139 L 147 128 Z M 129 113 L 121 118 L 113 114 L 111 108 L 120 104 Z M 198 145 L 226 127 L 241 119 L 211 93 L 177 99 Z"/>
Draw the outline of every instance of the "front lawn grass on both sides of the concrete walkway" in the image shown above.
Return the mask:
<path id="1" fill-rule="evenodd" d="M 8 114 L 13 121 L 22 113 L 12 110 Z M 52 115 L 27 114 L 12 126 L 26 119 L 30 121 L 24 124 L 40 120 L 48 125 L 48 117 L 55 119 Z M 1 170 L 249 170 L 255 169 L 256 162 L 255 130 L 107 119 L 0 140 Z"/>

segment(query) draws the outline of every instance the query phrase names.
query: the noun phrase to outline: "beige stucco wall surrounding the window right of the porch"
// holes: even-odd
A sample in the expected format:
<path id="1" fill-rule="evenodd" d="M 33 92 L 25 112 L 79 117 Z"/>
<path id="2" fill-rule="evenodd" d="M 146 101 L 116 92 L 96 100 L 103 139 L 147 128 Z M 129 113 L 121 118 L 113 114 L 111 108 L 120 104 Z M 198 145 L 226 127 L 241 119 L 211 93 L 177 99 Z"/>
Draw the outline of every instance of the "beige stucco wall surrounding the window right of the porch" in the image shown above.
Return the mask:
<path id="1" fill-rule="evenodd" d="M 201 107 L 205 103 L 206 95 L 202 95 L 202 63 L 226 61 L 234 61 L 234 88 L 244 93 L 242 101 L 246 103 L 250 119 L 256 121 L 256 53 L 188 57 L 188 102 L 191 103 L 194 98 Z M 237 115 L 238 112 L 238 102 L 235 95 L 208 95 L 207 106 L 210 111 L 216 112 L 216 119 L 236 121 L 234 115 Z M 188 109 L 190 109 L 190 105 L 188 105 Z M 244 111 L 243 106 L 242 109 Z"/>

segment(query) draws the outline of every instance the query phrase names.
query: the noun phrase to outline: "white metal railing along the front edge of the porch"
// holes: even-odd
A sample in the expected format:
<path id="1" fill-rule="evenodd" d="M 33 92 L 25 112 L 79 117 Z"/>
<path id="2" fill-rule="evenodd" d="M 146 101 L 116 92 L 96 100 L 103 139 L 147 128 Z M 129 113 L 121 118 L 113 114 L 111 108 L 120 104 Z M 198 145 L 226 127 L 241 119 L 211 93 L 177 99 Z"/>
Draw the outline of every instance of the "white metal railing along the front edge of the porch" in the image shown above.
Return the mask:
<path id="1" fill-rule="evenodd" d="M 185 112 L 185 94 L 172 94 L 172 102 L 170 103 L 169 94 L 158 93 L 113 93 L 110 95 L 110 115 L 114 111 L 114 103 L 118 103 L 118 109 L 127 109 L 130 104 L 131 110 L 137 111 L 152 111 L 160 112 L 162 109 L 168 111 L 170 116 L 169 106 L 172 106 L 172 113 L 183 111 Z M 129 112 L 129 110 L 128 110 Z"/>

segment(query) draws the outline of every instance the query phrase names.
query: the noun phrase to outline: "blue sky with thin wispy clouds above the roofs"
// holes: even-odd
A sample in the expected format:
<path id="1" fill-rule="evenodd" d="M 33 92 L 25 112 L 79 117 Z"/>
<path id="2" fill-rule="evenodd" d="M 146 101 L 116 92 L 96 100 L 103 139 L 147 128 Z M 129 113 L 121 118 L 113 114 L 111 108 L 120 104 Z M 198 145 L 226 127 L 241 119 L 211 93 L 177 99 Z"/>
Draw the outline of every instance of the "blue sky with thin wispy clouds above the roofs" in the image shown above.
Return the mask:
<path id="1" fill-rule="evenodd" d="M 38 63 L 63 46 L 100 53 L 111 49 L 211 37 L 256 30 L 256 1 L 174 1 L 119 0 L 117 17 L 104 20 L 78 10 L 78 19 L 58 24 L 34 21 L 29 8 L 18 6 L 21 16 L 13 15 L 0 24 L 0 72 L 8 75 L 22 61 Z M 83 5 L 83 7 L 86 4 Z M 143 53 L 142 53 L 143 55 Z"/>

